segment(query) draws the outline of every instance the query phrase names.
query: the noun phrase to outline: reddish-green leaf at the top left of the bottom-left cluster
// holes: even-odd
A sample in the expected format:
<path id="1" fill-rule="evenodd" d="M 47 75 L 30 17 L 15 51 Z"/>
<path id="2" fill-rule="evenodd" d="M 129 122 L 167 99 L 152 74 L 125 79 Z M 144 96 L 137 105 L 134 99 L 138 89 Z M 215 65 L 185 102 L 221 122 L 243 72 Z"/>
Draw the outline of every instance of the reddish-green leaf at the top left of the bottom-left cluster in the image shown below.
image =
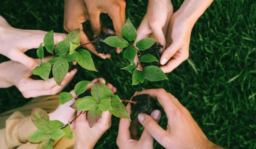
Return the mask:
<path id="1" fill-rule="evenodd" d="M 33 108 L 31 120 L 38 129 L 47 130 L 49 128 L 49 116 L 46 111 L 40 108 Z"/>

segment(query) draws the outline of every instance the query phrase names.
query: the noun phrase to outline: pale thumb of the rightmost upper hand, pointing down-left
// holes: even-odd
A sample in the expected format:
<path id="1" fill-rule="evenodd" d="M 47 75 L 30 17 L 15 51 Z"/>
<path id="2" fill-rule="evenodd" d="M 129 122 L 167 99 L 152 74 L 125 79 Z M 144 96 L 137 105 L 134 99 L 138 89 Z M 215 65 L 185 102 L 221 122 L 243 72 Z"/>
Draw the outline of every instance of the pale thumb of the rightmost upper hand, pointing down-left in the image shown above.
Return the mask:
<path id="1" fill-rule="evenodd" d="M 163 54 L 160 58 L 160 64 L 166 64 L 166 62 L 180 49 L 181 46 L 182 42 L 173 41 L 172 44 L 163 51 Z"/>

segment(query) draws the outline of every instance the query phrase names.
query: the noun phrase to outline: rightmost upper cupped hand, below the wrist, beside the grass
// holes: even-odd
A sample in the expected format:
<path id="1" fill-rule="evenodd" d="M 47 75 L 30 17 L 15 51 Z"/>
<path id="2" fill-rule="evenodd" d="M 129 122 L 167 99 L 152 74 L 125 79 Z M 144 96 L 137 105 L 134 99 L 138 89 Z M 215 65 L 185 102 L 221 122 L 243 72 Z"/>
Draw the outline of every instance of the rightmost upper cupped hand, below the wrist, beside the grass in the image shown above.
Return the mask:
<path id="1" fill-rule="evenodd" d="M 160 58 L 160 68 L 172 72 L 189 57 L 189 42 L 193 23 L 189 23 L 176 12 L 172 15 L 166 35 L 166 49 Z"/>

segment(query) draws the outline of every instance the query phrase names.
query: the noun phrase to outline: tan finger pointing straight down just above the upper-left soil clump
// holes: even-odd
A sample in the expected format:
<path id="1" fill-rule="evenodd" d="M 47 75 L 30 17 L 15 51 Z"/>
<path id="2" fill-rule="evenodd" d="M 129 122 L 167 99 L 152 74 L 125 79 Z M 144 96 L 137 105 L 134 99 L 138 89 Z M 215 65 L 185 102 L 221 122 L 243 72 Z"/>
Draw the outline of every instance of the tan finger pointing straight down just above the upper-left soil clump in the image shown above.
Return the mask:
<path id="1" fill-rule="evenodd" d="M 89 18 L 92 26 L 93 34 L 97 35 L 101 33 L 101 21 L 99 18 L 100 11 L 90 11 Z"/>

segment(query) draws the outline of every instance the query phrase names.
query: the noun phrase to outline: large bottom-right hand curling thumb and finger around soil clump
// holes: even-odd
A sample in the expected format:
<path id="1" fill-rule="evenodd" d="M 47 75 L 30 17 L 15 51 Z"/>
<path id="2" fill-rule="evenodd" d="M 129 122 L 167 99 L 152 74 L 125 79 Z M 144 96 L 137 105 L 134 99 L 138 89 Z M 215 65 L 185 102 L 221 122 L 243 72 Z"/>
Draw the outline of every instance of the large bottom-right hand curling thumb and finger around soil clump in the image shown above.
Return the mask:
<path id="1" fill-rule="evenodd" d="M 162 129 L 149 115 L 140 113 L 138 120 L 145 130 L 166 149 L 216 149 L 199 128 L 189 111 L 164 89 L 147 89 L 139 95 L 156 97 L 168 118 L 167 129 Z M 215 149 L 214 148 L 214 149 Z"/>

